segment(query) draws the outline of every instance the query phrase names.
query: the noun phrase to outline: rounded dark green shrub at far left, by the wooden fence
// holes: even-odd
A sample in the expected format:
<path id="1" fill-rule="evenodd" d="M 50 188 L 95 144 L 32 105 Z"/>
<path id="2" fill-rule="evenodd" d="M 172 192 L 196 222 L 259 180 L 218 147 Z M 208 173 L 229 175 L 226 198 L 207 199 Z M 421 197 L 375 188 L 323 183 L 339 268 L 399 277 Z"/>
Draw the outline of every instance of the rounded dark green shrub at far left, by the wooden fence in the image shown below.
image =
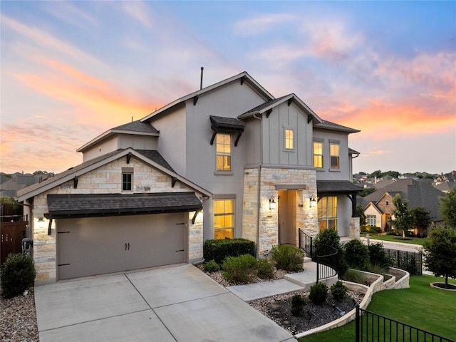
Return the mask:
<path id="1" fill-rule="evenodd" d="M 1 266 L 1 295 L 11 298 L 22 294 L 28 287 L 33 286 L 35 276 L 31 257 L 22 253 L 10 253 Z"/>

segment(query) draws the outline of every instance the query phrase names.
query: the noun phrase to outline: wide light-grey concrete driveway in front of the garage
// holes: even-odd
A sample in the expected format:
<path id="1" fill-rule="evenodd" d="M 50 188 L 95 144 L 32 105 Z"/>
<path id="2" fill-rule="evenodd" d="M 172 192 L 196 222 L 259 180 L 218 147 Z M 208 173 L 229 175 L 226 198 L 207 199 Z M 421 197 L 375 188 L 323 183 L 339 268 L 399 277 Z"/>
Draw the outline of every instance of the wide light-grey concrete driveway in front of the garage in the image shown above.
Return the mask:
<path id="1" fill-rule="evenodd" d="M 295 341 L 195 266 L 36 286 L 40 342 Z"/>

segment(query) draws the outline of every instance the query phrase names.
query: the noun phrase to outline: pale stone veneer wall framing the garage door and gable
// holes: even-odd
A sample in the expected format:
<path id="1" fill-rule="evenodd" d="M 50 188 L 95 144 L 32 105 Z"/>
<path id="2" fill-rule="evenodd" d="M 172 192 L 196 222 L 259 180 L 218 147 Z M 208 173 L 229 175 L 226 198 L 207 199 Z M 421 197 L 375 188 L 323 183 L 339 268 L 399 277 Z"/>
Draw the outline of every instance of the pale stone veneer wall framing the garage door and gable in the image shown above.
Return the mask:
<path id="1" fill-rule="evenodd" d="M 48 194 L 118 194 L 122 192 L 122 167 L 133 167 L 134 193 L 145 192 L 184 192 L 189 189 L 180 182 L 171 187 L 171 178 L 162 172 L 143 164 L 133 157 L 130 164 L 126 158 L 103 165 L 78 178 L 78 187 L 73 187 L 73 180 L 65 182 L 53 189 L 43 192 L 33 198 L 33 223 L 31 227 L 33 239 L 33 261 L 36 269 L 36 284 L 48 284 L 56 281 L 57 245 L 56 221 L 53 220 L 51 235 L 48 235 L 48 219 L 44 214 L 48 212 Z M 190 190 L 192 191 L 192 190 Z M 125 193 L 133 193 L 125 192 Z M 196 193 L 197 197 L 202 196 Z M 197 215 L 195 224 L 192 217 L 195 212 L 189 213 L 188 220 L 188 260 L 202 259 L 202 214 Z"/>

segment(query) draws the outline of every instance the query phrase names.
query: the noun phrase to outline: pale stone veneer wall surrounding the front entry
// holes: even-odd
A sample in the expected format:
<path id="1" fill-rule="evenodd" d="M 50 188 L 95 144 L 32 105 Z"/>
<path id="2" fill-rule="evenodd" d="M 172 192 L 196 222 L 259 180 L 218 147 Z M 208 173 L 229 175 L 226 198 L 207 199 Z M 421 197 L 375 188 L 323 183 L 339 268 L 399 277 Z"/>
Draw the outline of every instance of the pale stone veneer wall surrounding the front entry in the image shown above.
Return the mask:
<path id="1" fill-rule="evenodd" d="M 269 199 L 278 198 L 276 185 L 306 185 L 296 191 L 296 246 L 299 244 L 298 230 L 314 237 L 318 234 L 318 212 L 307 205 L 310 197 L 316 196 L 316 171 L 308 169 L 261 167 L 244 172 L 244 212 L 242 236 L 257 242 L 259 254 L 279 244 L 279 208 L 269 209 Z M 259 182 L 259 184 L 258 184 Z M 259 201 L 258 201 L 259 186 Z M 257 217 L 259 212 L 259 227 Z M 259 232 L 259 237 L 257 237 Z"/>

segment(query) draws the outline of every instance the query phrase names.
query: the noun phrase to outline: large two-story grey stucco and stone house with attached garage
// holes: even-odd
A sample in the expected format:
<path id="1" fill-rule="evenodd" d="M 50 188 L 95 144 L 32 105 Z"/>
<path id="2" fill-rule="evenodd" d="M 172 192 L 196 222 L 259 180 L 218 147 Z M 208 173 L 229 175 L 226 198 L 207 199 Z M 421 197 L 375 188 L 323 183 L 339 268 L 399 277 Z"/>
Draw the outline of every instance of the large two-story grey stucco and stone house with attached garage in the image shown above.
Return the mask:
<path id="1" fill-rule="evenodd" d="M 202 261 L 207 239 L 251 239 L 261 257 L 300 230 L 358 237 L 356 132 L 246 72 L 108 130 L 19 192 L 37 281 Z"/>

